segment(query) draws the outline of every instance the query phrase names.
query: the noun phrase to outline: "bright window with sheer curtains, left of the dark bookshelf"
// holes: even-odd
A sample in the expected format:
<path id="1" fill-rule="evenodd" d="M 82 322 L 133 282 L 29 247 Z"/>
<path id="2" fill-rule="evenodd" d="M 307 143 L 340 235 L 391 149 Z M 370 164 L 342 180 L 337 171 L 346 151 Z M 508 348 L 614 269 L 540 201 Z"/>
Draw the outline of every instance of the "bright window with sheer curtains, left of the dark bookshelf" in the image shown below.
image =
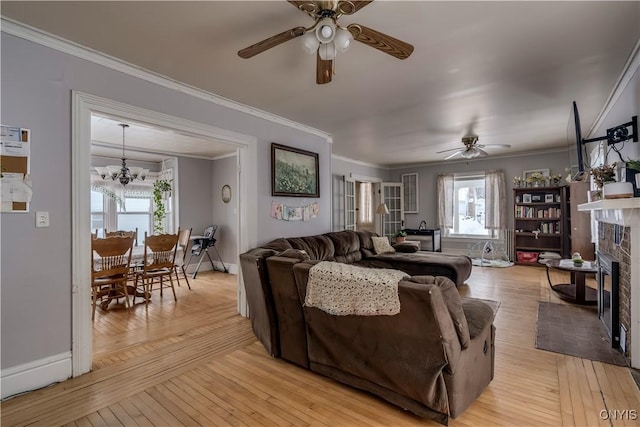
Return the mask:
<path id="1" fill-rule="evenodd" d="M 504 228 L 505 198 L 502 171 L 488 171 L 482 175 L 440 175 L 440 227 L 447 236 L 495 238 L 497 230 Z"/>

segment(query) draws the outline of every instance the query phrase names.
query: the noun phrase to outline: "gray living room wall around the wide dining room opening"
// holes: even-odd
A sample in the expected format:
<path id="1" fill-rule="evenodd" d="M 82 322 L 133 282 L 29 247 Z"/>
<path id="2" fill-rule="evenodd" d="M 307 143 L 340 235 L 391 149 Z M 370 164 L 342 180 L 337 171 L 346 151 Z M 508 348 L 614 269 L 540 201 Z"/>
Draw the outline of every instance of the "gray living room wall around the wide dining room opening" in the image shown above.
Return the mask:
<path id="1" fill-rule="evenodd" d="M 1 217 L 2 369 L 71 349 L 72 90 L 254 136 L 258 141 L 255 185 L 260 209 L 250 221 L 258 225 L 258 241 L 278 235 L 330 230 L 331 148 L 323 138 L 230 110 L 6 33 L 2 33 L 0 50 L 2 123 L 32 131 L 34 192 L 29 213 L 3 213 Z M 270 162 L 267 159 L 272 141 L 320 153 L 323 171 L 321 212 L 310 223 L 275 224 L 269 218 Z M 189 173 L 190 160 L 185 162 L 187 166 L 180 165 L 181 174 Z M 206 168 L 206 164 L 202 167 Z M 193 181 L 198 186 L 206 179 L 198 176 L 198 179 L 185 181 Z M 185 181 L 180 185 L 186 185 Z M 207 187 L 210 184 L 202 185 L 205 185 L 203 194 L 212 194 L 212 188 Z M 210 201 L 203 201 L 196 194 L 199 191 L 189 193 L 181 188 L 180 221 L 185 225 L 192 224 L 194 230 L 210 221 L 213 209 Z M 200 209 L 207 212 L 206 221 L 200 216 Z M 49 211 L 50 227 L 35 228 L 36 211 Z M 32 265 L 37 268 L 30 268 Z"/>

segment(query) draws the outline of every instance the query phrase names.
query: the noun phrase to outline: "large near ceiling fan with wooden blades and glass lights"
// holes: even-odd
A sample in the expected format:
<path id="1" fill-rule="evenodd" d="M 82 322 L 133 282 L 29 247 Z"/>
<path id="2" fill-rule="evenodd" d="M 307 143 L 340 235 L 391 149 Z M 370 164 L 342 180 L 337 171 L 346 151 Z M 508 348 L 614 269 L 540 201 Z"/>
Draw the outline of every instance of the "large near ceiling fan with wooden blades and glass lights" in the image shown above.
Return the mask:
<path id="1" fill-rule="evenodd" d="M 357 40 L 398 59 L 406 59 L 413 52 L 413 46 L 387 34 L 360 24 L 338 25 L 342 15 L 353 15 L 373 0 L 351 1 L 293 1 L 293 6 L 312 17 L 315 22 L 308 28 L 295 27 L 280 34 L 269 37 L 238 51 L 241 58 L 251 58 L 265 50 L 278 46 L 286 41 L 303 36 L 305 50 L 316 53 L 316 83 L 325 84 L 331 81 L 333 60 L 338 52 L 345 52 L 352 40 Z"/>

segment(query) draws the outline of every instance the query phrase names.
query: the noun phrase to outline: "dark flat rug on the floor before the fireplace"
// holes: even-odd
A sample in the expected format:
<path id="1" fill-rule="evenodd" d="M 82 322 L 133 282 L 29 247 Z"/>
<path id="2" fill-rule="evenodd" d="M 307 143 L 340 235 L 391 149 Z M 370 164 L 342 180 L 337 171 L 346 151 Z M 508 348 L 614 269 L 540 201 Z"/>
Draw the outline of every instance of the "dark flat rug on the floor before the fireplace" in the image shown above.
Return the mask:
<path id="1" fill-rule="evenodd" d="M 595 307 L 538 303 L 536 348 L 583 359 L 628 366 L 598 319 Z"/>

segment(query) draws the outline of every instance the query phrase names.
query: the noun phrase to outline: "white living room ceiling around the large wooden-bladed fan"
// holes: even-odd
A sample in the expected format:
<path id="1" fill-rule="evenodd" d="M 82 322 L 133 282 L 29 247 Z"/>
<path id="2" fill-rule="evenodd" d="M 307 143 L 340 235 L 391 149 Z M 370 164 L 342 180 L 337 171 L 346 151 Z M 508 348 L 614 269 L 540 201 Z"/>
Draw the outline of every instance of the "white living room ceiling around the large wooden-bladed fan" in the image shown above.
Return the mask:
<path id="1" fill-rule="evenodd" d="M 638 1 L 377 0 L 339 23 L 409 42 L 413 54 L 355 42 L 317 85 L 299 39 L 236 54 L 312 24 L 285 1 L 3 0 L 2 14 L 329 132 L 333 153 L 380 165 L 442 160 L 450 153 L 436 151 L 461 146 L 470 129 L 481 144 L 512 145 L 493 155 L 566 146 L 571 102 L 588 134 L 640 40 Z"/>

